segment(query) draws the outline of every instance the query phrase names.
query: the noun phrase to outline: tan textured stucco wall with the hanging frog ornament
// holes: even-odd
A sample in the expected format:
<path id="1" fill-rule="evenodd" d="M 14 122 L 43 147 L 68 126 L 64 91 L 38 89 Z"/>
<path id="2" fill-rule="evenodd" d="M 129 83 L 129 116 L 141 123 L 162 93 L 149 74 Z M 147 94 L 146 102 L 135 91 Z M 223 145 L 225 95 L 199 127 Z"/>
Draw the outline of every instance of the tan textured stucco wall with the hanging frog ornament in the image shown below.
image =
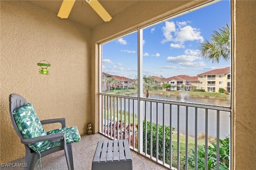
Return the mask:
<path id="1" fill-rule="evenodd" d="M 78 126 L 81 135 L 86 133 L 91 117 L 91 30 L 27 1 L 1 0 L 0 31 L 0 162 L 25 154 L 10 120 L 11 93 L 34 104 L 40 120 L 65 117 L 67 126 Z M 41 60 L 51 64 L 49 75 L 39 74 Z"/>

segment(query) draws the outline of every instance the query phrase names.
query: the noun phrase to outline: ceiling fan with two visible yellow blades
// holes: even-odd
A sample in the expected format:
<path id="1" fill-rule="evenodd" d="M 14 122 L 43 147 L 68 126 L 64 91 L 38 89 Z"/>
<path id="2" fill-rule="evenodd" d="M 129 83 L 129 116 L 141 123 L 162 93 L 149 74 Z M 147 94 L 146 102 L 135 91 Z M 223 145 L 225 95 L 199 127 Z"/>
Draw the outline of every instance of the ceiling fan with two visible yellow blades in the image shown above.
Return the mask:
<path id="1" fill-rule="evenodd" d="M 75 1 L 76 0 L 63 0 L 57 16 L 60 18 L 68 18 Z M 86 0 L 86 2 L 88 2 L 88 4 L 95 10 L 95 12 L 97 12 L 97 14 L 105 22 L 110 21 L 112 19 L 112 17 L 103 8 L 100 2 L 98 2 L 98 0 Z"/>

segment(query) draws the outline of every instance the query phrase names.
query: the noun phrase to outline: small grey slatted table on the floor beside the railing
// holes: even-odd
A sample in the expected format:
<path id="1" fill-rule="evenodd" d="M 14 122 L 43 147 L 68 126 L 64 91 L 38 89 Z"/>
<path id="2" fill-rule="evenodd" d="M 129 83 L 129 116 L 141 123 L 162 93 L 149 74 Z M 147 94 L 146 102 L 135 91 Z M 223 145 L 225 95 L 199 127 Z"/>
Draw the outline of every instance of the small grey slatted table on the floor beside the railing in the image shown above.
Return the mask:
<path id="1" fill-rule="evenodd" d="M 98 141 L 92 170 L 132 170 L 128 140 Z"/>

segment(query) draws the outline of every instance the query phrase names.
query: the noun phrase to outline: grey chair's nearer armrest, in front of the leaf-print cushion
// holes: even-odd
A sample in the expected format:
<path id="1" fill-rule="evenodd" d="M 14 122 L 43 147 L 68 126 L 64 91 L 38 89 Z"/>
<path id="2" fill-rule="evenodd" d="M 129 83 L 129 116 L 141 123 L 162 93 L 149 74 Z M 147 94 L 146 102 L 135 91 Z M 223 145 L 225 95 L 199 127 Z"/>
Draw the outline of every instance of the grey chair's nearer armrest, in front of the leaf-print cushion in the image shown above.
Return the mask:
<path id="1" fill-rule="evenodd" d="M 21 143 L 24 144 L 32 144 L 32 143 L 37 143 L 37 142 L 43 142 L 43 141 L 50 141 L 50 142 L 55 142 L 58 141 L 59 139 L 66 140 L 66 133 L 56 133 L 56 134 L 51 134 L 51 135 L 45 135 L 45 136 L 40 136 L 40 137 L 33 137 L 33 138 L 28 138 L 28 139 L 20 139 Z M 66 141 L 64 141 L 66 143 Z"/>

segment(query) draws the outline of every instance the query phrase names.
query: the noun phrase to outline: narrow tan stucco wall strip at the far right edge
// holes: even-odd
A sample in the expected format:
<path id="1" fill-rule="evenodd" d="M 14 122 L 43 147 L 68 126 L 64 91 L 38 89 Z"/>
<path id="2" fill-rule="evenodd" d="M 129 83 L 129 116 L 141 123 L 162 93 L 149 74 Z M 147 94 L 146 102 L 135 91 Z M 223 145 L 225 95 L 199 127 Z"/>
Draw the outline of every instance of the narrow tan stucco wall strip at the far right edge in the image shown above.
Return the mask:
<path id="1" fill-rule="evenodd" d="M 234 3 L 234 169 L 256 167 L 256 1 Z"/>

